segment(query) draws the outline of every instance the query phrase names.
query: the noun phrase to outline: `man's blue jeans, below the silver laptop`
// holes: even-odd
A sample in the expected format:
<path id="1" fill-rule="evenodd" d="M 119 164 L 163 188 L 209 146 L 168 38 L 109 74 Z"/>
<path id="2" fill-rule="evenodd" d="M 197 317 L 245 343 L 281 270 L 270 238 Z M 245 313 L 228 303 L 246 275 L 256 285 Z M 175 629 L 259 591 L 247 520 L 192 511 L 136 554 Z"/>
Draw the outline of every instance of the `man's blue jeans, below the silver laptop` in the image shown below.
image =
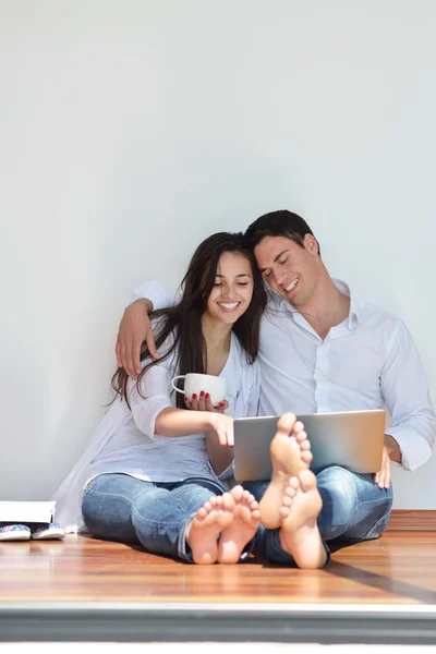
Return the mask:
<path id="1" fill-rule="evenodd" d="M 382 489 L 371 474 L 356 474 L 339 465 L 326 468 L 316 475 L 323 499 L 318 517 L 320 535 L 325 543 L 332 541 L 356 543 L 378 538 L 385 530 L 392 507 L 392 485 Z M 259 501 L 269 482 L 244 482 L 242 485 Z M 261 525 L 256 541 L 258 553 L 269 561 L 292 562 L 283 552 L 278 530 Z M 328 553 L 328 547 L 326 545 Z M 328 557 L 329 558 L 329 557 Z"/>

